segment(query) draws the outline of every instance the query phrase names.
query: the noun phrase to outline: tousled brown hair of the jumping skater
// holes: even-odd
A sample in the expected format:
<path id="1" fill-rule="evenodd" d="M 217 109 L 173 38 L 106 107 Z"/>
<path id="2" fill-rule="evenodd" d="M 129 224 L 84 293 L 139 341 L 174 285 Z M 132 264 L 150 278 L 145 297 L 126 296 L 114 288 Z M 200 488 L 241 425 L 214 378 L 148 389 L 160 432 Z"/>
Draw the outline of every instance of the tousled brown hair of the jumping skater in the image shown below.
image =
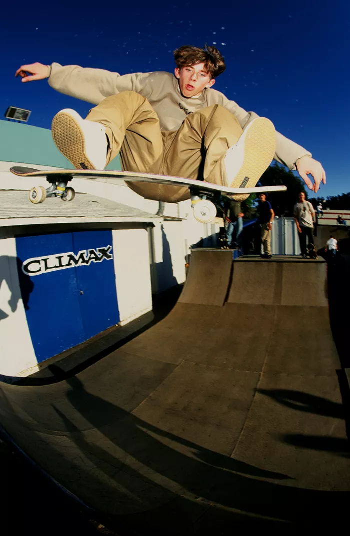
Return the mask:
<path id="1" fill-rule="evenodd" d="M 198 48 L 185 44 L 183 47 L 174 50 L 174 59 L 176 66 L 181 67 L 204 63 L 206 72 L 216 78 L 226 69 L 225 61 L 216 47 Z"/>

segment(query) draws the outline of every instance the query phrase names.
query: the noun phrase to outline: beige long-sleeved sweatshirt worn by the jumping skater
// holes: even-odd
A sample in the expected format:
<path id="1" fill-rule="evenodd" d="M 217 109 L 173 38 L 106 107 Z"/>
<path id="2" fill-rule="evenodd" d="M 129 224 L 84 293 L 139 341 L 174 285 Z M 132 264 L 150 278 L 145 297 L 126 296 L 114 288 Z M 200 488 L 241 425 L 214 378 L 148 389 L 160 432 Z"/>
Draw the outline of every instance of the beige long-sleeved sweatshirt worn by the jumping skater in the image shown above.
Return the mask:
<path id="1" fill-rule="evenodd" d="M 60 93 L 94 105 L 121 91 L 136 91 L 148 99 L 159 117 L 162 130 L 178 130 L 188 113 L 214 104 L 223 106 L 235 115 L 242 128 L 258 117 L 253 111 L 245 111 L 236 102 L 228 100 L 223 93 L 212 88 L 204 90 L 199 96 L 186 99 L 180 93 L 177 78 L 165 71 L 120 76 L 118 72 L 104 69 L 53 63 L 48 83 Z M 303 147 L 276 132 L 275 160 L 289 169 L 296 169 L 296 160 L 306 154 L 311 156 Z"/>

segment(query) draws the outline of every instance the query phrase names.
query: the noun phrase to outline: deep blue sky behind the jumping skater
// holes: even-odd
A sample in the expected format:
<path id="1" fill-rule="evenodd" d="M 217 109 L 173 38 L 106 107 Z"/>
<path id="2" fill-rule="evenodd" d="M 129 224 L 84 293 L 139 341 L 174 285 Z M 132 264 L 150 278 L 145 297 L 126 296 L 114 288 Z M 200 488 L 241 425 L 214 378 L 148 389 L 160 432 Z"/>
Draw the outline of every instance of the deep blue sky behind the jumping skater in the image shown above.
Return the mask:
<path id="1" fill-rule="evenodd" d="M 60 109 L 83 115 L 91 107 L 55 92 L 46 80 L 22 84 L 14 72 L 23 64 L 56 61 L 121 75 L 173 71 L 175 48 L 215 42 L 227 64 L 215 89 L 308 148 L 327 173 L 321 195 L 350 191 L 348 0 L 6 4 L 3 112 L 30 109 L 29 123 L 49 128 Z"/>

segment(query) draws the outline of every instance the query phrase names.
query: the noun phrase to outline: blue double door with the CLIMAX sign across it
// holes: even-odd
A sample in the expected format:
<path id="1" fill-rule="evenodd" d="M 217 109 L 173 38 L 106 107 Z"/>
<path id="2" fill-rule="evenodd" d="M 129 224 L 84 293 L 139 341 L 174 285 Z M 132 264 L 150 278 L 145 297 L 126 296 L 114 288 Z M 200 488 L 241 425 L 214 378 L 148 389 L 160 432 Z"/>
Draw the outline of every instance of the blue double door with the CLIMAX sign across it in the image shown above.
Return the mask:
<path id="1" fill-rule="evenodd" d="M 119 322 L 112 245 L 111 230 L 16 238 L 21 292 L 38 362 Z M 29 296 L 24 288 L 28 280 Z"/>

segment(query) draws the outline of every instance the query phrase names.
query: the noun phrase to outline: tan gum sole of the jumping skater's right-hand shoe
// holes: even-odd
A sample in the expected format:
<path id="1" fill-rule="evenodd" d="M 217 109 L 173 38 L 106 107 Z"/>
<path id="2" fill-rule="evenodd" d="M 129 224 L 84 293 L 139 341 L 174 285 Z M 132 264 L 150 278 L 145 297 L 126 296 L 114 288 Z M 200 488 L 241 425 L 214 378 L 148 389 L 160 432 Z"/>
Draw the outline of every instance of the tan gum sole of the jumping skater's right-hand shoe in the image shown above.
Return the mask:
<path id="1" fill-rule="evenodd" d="M 243 163 L 230 183 L 231 188 L 253 188 L 271 164 L 276 152 L 276 131 L 269 119 L 259 117 L 252 123 L 244 138 L 243 151 Z M 232 197 L 244 201 L 249 194 Z"/>

